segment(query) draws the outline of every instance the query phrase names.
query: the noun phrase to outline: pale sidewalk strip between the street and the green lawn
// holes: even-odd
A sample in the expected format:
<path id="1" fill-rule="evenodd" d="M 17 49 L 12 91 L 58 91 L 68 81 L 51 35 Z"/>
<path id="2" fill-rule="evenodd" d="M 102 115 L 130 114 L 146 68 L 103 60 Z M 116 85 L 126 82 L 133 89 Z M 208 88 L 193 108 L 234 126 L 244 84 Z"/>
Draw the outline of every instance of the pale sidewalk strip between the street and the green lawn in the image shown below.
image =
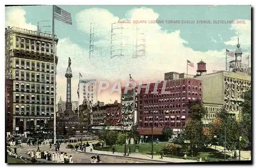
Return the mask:
<path id="1" fill-rule="evenodd" d="M 77 150 L 77 152 L 82 152 L 81 150 Z M 82 152 L 84 153 L 84 152 Z M 93 150 L 90 152 L 89 148 L 86 148 L 86 153 L 93 153 L 93 154 L 98 154 L 98 155 L 109 155 L 109 156 L 121 156 L 121 157 L 129 157 L 129 158 L 136 158 L 136 159 L 144 159 L 144 160 L 154 160 L 154 161 L 160 161 L 160 162 L 176 162 L 176 163 L 181 163 L 181 162 L 197 162 L 196 160 L 185 160 L 185 159 L 178 159 L 178 158 L 170 158 L 170 157 L 163 157 L 163 159 L 160 159 L 160 155 L 154 155 L 153 159 L 151 158 L 151 155 L 146 155 L 146 154 L 141 154 L 141 153 L 132 153 L 129 156 L 124 156 L 123 153 L 115 152 L 109 152 L 109 151 L 98 151 L 98 150 Z"/>

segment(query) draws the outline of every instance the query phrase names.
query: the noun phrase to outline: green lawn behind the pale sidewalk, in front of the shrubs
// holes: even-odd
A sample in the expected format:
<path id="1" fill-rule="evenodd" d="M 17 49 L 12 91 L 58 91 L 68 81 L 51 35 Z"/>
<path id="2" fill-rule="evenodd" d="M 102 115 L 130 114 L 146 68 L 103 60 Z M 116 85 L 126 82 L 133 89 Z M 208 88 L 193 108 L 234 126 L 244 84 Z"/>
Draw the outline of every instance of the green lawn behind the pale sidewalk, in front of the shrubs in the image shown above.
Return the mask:
<path id="1" fill-rule="evenodd" d="M 167 143 L 158 143 L 158 145 L 156 143 L 153 143 L 153 150 L 154 153 L 156 153 L 158 150 L 163 149 L 163 147 L 165 146 L 165 144 Z M 129 147 L 131 147 L 131 153 L 135 153 L 136 150 L 136 146 L 139 147 L 139 153 L 144 153 L 144 154 L 151 154 L 151 150 L 152 150 L 152 143 L 145 143 L 145 144 L 133 144 L 133 145 L 126 145 L 126 152 L 128 150 Z M 122 146 L 114 146 L 116 151 L 115 152 L 121 152 L 124 153 L 124 145 Z M 100 151 L 110 151 L 112 152 L 112 148 L 97 148 L 96 150 L 100 150 Z"/>

